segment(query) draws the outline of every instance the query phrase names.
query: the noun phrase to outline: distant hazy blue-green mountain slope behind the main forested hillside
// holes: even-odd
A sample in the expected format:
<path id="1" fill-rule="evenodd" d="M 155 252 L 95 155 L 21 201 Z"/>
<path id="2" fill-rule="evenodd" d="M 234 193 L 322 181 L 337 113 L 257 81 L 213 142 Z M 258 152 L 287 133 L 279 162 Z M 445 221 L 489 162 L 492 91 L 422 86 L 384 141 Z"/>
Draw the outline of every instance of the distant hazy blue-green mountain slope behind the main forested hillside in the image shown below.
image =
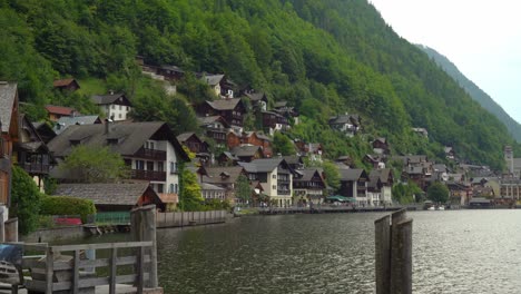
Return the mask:
<path id="1" fill-rule="evenodd" d="M 480 89 L 472 80 L 468 79 L 445 56 L 426 46 L 417 45 L 417 47 L 425 51 L 449 76 L 455 79 L 469 92 L 472 99 L 498 117 L 507 126 L 515 140 L 521 141 L 521 125 L 509 116 L 486 92 Z"/>

